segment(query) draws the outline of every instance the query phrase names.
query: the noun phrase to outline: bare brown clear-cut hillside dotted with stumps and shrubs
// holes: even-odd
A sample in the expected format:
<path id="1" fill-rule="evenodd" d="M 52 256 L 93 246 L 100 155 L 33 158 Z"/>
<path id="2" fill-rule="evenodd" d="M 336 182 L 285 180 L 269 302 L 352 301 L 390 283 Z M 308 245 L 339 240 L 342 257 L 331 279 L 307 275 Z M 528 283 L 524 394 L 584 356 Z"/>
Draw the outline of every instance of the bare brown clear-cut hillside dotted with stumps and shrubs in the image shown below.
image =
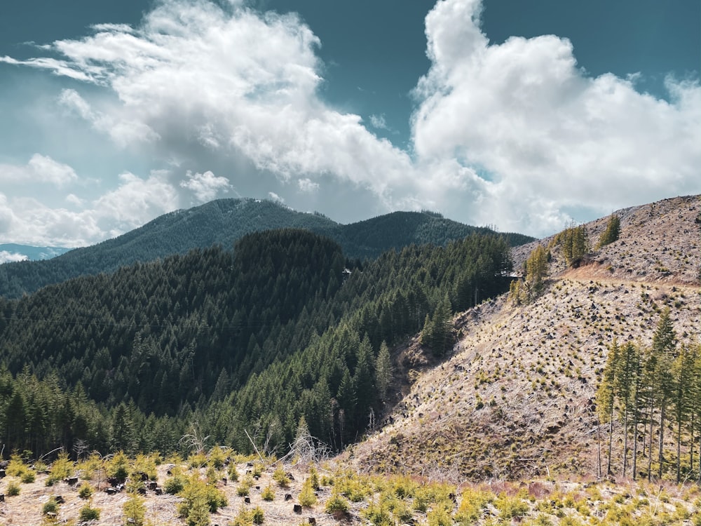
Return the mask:
<path id="1" fill-rule="evenodd" d="M 456 316 L 447 359 L 417 340 L 398 351 L 400 400 L 349 460 L 456 478 L 596 474 L 594 395 L 613 338 L 650 344 L 666 307 L 680 342 L 701 333 L 699 196 L 618 215 L 618 241 L 578 269 L 551 247 L 550 280 L 532 304 L 503 296 Z M 592 245 L 607 220 L 585 225 Z M 514 249 L 517 268 L 534 246 Z"/>

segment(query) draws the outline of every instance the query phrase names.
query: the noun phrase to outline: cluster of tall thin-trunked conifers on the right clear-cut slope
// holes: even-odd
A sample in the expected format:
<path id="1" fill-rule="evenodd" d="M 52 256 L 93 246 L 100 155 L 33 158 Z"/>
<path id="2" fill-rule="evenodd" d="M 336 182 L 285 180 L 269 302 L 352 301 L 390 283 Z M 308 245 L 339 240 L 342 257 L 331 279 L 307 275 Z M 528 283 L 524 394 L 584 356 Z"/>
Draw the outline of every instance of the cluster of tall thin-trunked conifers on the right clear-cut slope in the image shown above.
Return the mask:
<path id="1" fill-rule="evenodd" d="M 624 439 L 622 476 L 662 478 L 672 471 L 677 482 L 693 477 L 701 483 L 701 348 L 679 344 L 669 309 L 660 316 L 651 346 L 614 340 L 597 390 L 597 410 L 600 422 L 608 423 L 609 475 L 616 469 L 616 424 Z M 676 443 L 673 452 L 667 449 L 667 430 Z"/>

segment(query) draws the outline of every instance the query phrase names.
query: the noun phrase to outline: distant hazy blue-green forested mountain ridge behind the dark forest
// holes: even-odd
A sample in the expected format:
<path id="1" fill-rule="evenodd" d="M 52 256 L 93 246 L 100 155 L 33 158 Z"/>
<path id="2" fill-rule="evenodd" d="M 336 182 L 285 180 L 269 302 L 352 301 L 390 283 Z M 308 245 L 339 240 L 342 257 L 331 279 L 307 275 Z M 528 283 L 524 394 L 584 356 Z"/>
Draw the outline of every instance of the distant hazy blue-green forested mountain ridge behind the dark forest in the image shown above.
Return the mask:
<path id="1" fill-rule="evenodd" d="M 86 248 L 77 248 L 50 261 L 0 264 L 0 296 L 34 292 L 69 278 L 110 273 L 135 262 L 184 255 L 193 248 L 222 245 L 229 249 L 254 231 L 301 228 L 328 236 L 341 245 L 345 257 L 378 257 L 390 248 L 412 243 L 445 245 L 474 233 L 494 234 L 433 213 L 397 212 L 355 224 L 338 224 L 319 214 L 299 213 L 284 205 L 257 199 L 220 199 L 155 220 Z M 510 245 L 532 241 L 522 234 L 503 234 Z"/>

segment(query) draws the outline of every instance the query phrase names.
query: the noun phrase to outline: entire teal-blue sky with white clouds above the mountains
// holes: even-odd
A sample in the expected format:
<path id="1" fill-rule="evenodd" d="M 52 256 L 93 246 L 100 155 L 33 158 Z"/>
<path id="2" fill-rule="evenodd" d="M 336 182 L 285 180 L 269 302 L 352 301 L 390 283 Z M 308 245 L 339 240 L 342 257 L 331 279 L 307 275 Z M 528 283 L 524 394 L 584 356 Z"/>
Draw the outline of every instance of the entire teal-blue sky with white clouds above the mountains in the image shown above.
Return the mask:
<path id="1" fill-rule="evenodd" d="M 216 198 L 546 236 L 701 193 L 701 3 L 27 0 L 0 16 L 0 243 Z"/>

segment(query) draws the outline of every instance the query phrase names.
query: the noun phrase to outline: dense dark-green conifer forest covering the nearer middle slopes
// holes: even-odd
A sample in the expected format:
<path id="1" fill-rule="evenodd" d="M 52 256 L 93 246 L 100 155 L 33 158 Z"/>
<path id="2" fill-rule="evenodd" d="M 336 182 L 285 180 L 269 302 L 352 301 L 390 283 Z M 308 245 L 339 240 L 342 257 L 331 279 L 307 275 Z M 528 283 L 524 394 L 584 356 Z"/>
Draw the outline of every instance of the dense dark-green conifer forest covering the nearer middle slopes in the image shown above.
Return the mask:
<path id="1" fill-rule="evenodd" d="M 304 416 L 338 449 L 381 410 L 388 346 L 447 305 L 503 292 L 510 267 L 496 236 L 355 267 L 328 238 L 283 230 L 245 236 L 233 253 L 196 250 L 0 300 L 0 362 L 13 386 L 0 398 L 0 436 L 8 450 L 84 440 L 168 452 L 198 422 L 237 450 L 251 448 L 245 430 L 280 450 Z M 44 384 L 50 396 L 27 388 Z M 88 416 L 50 423 L 52 399 Z"/>

